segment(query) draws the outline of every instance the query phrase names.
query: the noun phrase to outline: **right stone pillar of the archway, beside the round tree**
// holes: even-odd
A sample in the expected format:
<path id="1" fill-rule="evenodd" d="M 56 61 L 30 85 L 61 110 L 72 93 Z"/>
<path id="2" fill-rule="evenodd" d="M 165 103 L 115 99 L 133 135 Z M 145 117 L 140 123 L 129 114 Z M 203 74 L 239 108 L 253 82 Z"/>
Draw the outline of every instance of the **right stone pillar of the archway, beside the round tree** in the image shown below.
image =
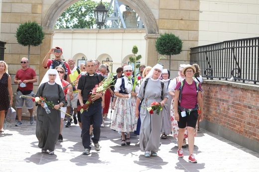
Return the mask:
<path id="1" fill-rule="evenodd" d="M 159 34 L 146 34 L 145 40 L 146 40 L 146 57 L 145 57 L 145 64 L 147 66 L 153 67 L 157 64 L 157 56 L 158 53 L 155 49 L 155 41 L 157 38 L 159 38 Z"/>

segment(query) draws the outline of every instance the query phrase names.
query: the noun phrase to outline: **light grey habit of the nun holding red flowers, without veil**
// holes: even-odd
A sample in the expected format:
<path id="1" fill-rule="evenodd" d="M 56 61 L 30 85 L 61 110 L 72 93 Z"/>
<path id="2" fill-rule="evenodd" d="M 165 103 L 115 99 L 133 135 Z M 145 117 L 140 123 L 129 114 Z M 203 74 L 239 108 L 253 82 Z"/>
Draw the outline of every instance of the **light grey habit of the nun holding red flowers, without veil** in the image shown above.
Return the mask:
<path id="1" fill-rule="evenodd" d="M 163 88 L 163 96 L 161 97 L 162 87 L 160 80 L 152 81 L 150 78 L 145 87 L 145 95 L 143 95 L 144 84 L 140 86 L 137 97 L 142 100 L 141 106 L 146 107 L 151 105 L 153 101 L 161 102 L 163 98 L 168 98 L 166 87 Z M 149 114 L 146 108 L 140 108 L 141 127 L 139 133 L 139 146 L 142 151 L 157 152 L 160 143 L 160 132 L 162 125 L 162 113 L 165 108 L 160 111 L 159 115 Z"/>

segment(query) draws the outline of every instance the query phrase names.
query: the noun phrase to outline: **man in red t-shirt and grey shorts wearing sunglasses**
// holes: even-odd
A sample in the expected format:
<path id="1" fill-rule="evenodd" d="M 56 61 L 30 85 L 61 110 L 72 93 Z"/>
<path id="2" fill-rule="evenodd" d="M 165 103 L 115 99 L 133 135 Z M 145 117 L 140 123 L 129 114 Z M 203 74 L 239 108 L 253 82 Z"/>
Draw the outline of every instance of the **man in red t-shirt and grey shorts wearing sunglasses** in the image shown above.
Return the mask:
<path id="1" fill-rule="evenodd" d="M 33 93 L 33 83 L 36 83 L 37 77 L 36 73 L 32 68 L 28 67 L 29 61 L 26 57 L 21 59 L 21 69 L 16 72 L 15 78 L 13 80 L 14 84 L 18 84 L 18 89 L 16 93 L 16 113 L 18 116 L 18 122 L 15 126 L 22 126 L 21 114 L 22 106 L 25 100 L 25 106 L 30 112 L 30 124 L 34 123 L 33 116 L 33 102 L 31 98 L 21 98 L 20 95 L 34 96 Z"/>

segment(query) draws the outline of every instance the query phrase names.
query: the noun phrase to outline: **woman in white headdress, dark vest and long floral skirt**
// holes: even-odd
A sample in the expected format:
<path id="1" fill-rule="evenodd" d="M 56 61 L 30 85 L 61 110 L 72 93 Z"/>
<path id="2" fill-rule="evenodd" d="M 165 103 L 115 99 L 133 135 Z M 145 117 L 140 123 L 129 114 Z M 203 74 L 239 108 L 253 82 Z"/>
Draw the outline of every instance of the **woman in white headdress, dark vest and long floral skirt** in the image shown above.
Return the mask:
<path id="1" fill-rule="evenodd" d="M 118 78 L 115 84 L 115 95 L 117 96 L 116 105 L 114 107 L 114 115 L 112 119 L 111 129 L 122 133 L 122 146 L 130 145 L 130 134 L 136 130 L 137 117 L 135 117 L 136 95 L 138 86 L 132 90 L 133 82 L 132 67 L 127 65 L 123 69 L 124 77 Z M 125 138 L 127 133 L 127 138 Z"/>

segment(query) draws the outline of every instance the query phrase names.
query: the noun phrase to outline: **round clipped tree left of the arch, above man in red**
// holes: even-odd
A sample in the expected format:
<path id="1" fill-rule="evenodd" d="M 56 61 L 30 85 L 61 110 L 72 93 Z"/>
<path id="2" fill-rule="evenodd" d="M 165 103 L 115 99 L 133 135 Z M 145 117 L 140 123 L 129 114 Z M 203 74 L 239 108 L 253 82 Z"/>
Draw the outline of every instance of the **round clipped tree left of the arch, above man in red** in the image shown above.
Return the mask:
<path id="1" fill-rule="evenodd" d="M 36 21 L 25 22 L 20 24 L 16 30 L 16 35 L 18 44 L 22 46 L 28 46 L 28 59 L 30 57 L 30 46 L 38 46 L 42 43 L 45 37 L 45 33 L 42 27 L 39 26 Z"/>

